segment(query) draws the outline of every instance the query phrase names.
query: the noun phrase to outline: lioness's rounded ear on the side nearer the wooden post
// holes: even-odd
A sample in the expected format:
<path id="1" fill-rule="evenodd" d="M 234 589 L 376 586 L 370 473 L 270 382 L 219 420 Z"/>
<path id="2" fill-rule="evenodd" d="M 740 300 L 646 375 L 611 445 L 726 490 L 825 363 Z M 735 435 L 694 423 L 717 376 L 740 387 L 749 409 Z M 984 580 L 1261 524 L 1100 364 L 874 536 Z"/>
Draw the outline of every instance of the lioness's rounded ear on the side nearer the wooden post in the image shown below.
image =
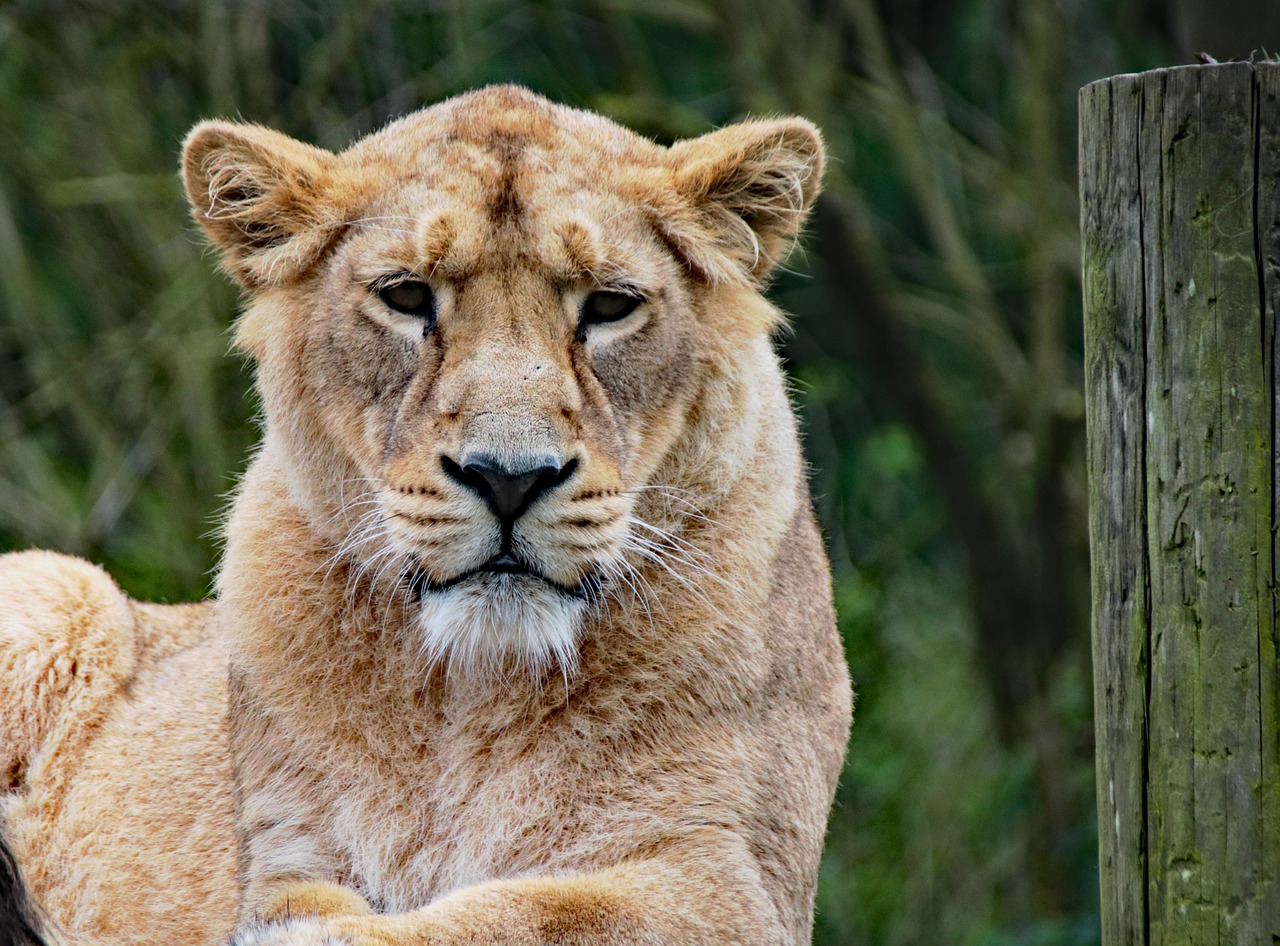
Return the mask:
<path id="1" fill-rule="evenodd" d="M 668 216 L 668 236 L 689 262 L 717 282 L 744 273 L 762 282 L 791 248 L 822 189 L 826 152 L 812 123 L 785 118 L 676 142 L 668 160 L 692 211 Z M 737 271 L 727 271 L 726 262 Z"/>

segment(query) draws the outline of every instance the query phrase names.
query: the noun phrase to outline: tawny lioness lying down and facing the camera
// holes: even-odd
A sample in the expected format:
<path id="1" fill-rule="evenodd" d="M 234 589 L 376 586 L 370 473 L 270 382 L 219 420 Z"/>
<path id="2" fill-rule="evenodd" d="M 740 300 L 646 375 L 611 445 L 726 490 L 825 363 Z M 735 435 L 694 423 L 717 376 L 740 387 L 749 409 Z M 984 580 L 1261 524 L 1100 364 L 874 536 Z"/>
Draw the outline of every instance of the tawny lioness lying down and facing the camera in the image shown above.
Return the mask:
<path id="1" fill-rule="evenodd" d="M 809 942 L 850 686 L 760 287 L 822 165 L 515 87 L 340 154 L 196 127 L 265 413 L 216 599 L 0 559 L 67 942 Z"/>

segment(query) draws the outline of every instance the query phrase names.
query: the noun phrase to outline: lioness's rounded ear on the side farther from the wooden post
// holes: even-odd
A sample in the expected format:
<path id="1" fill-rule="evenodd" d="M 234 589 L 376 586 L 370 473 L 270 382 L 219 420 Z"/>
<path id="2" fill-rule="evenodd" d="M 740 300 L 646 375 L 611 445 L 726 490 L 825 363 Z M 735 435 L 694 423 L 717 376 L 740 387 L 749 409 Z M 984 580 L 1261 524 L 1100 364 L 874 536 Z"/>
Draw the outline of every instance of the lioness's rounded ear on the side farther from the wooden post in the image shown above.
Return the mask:
<path id="1" fill-rule="evenodd" d="M 298 275 L 337 237 L 325 200 L 335 157 L 270 128 L 201 122 L 183 145 L 191 212 L 228 271 L 259 289 Z"/>

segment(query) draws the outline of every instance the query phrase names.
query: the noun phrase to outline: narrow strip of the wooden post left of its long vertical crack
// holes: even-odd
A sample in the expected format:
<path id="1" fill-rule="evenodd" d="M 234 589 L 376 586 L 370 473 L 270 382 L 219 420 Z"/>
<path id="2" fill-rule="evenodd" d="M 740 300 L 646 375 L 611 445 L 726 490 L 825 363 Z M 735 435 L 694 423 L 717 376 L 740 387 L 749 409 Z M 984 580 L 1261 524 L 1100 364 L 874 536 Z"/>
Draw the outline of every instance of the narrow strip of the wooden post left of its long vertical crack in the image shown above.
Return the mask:
<path id="1" fill-rule="evenodd" d="M 1146 943 L 1147 326 L 1138 120 L 1142 83 L 1080 95 L 1085 405 L 1093 552 L 1098 860 L 1106 942 Z M 1125 881 L 1124 878 L 1129 878 Z M 1140 887 L 1126 888 L 1138 882 Z"/>

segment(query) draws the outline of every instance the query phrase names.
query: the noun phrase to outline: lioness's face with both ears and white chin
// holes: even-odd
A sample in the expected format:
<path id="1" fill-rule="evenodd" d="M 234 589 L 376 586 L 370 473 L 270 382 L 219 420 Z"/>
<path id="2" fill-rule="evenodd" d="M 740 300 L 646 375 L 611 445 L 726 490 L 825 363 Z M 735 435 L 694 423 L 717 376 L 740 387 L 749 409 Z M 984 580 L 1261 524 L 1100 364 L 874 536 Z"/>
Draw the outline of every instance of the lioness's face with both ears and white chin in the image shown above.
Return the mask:
<path id="1" fill-rule="evenodd" d="M 184 172 L 335 558 L 413 597 L 431 661 L 567 669 L 705 379 L 773 325 L 820 163 L 797 119 L 663 148 L 499 87 L 337 155 L 206 123 Z"/>

